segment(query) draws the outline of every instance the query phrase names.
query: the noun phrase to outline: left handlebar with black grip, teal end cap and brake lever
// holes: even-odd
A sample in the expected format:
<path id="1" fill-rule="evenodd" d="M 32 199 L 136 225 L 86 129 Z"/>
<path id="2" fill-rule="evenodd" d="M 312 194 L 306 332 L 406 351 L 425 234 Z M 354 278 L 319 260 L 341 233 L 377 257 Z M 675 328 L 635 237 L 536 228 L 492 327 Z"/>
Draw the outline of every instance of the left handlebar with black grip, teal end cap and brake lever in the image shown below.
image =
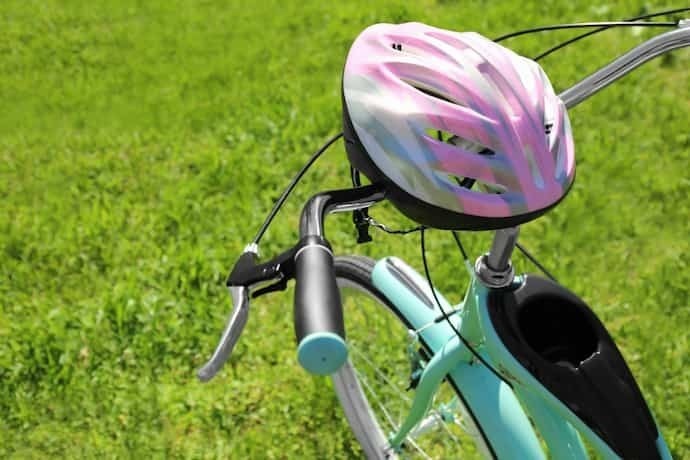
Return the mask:
<path id="1" fill-rule="evenodd" d="M 300 240 L 294 247 L 258 264 L 257 246 L 247 246 L 226 283 L 233 299 L 230 319 L 213 355 L 197 372 L 199 380 L 213 378 L 230 357 L 247 322 L 249 294 L 259 297 L 284 290 L 291 279 L 295 279 L 298 361 L 313 374 L 337 371 L 347 359 L 347 348 L 333 253 L 323 222 L 330 213 L 368 208 L 384 198 L 378 185 L 319 193 L 302 209 Z"/>

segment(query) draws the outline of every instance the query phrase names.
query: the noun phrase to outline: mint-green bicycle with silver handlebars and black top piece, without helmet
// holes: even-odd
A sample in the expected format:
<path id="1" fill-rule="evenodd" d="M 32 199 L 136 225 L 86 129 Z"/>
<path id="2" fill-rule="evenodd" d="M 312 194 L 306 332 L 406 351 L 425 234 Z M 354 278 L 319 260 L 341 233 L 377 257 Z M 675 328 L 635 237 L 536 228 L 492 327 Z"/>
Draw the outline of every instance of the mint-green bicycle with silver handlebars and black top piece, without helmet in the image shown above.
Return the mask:
<path id="1" fill-rule="evenodd" d="M 675 25 L 562 92 L 564 105 L 572 108 L 644 62 L 690 45 L 690 23 Z M 232 269 L 227 284 L 233 311 L 199 371 L 201 380 L 212 378 L 229 358 L 246 324 L 250 295 L 284 290 L 294 279 L 298 360 L 313 374 L 332 376 L 368 458 L 454 456 L 464 443 L 456 426 L 489 458 L 545 458 L 543 444 L 559 459 L 588 458 L 589 451 L 603 458 L 671 457 L 634 377 L 592 310 L 548 274 L 514 272 L 510 259 L 519 224 L 493 228 L 490 250 L 474 265 L 454 233 L 471 281 L 464 301 L 452 306 L 433 289 L 426 260 L 422 276 L 395 257 L 333 255 L 325 216 L 353 212 L 365 241 L 368 226 L 377 225 L 366 210 L 388 198 L 384 185 L 362 186 L 353 170 L 354 188 L 314 195 L 302 210 L 299 242 L 259 263 L 258 242 L 272 217 L 339 137 L 300 171 Z M 424 254 L 424 227 L 413 230 L 421 232 Z M 386 315 L 350 311 L 370 308 Z M 364 315 L 369 335 L 350 339 L 348 350 L 344 316 L 357 315 Z M 392 330 L 387 320 L 397 325 L 400 343 L 379 340 Z M 375 363 L 381 358 L 382 364 Z M 401 379 L 393 382 L 396 375 Z M 450 391 L 439 390 L 444 380 Z M 413 398 L 386 388 L 401 382 Z M 431 408 L 437 395 L 450 399 Z"/>

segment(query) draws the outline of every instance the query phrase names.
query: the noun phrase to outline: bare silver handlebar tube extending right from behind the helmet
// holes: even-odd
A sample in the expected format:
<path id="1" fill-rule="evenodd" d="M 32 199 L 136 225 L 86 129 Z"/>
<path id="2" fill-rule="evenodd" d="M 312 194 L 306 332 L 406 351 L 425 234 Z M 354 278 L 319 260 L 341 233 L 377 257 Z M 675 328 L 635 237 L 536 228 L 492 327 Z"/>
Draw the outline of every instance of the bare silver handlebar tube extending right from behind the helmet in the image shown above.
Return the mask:
<path id="1" fill-rule="evenodd" d="M 678 29 L 657 35 L 613 60 L 559 96 L 567 108 L 607 87 L 645 62 L 669 51 L 690 45 L 690 20 L 678 22 Z"/>

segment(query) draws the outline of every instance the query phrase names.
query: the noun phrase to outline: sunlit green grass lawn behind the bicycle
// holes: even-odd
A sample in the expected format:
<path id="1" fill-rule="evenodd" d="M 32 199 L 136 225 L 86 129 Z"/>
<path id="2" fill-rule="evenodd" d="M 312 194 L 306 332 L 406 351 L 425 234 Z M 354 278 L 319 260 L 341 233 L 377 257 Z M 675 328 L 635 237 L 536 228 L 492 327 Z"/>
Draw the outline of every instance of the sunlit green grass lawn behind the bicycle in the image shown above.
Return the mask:
<path id="1" fill-rule="evenodd" d="M 5 0 L 0 457 L 356 458 L 330 383 L 296 363 L 291 291 L 253 304 L 218 378 L 194 377 L 230 307 L 227 270 L 339 130 L 349 44 L 374 22 L 495 37 L 664 6 L 653 3 Z M 649 35 L 610 31 L 543 65 L 563 89 Z M 567 36 L 509 45 L 535 54 Z M 689 68 L 687 51 L 652 61 L 571 112 L 576 184 L 521 237 L 607 324 L 675 458 L 690 457 Z M 347 183 L 339 145 L 263 254 L 295 242 L 311 193 Z M 410 224 L 385 205 L 372 213 Z M 348 217 L 328 232 L 339 253 L 420 266 L 416 236 L 357 246 Z M 465 240 L 475 256 L 488 241 Z M 457 300 L 452 239 L 429 245 Z"/>

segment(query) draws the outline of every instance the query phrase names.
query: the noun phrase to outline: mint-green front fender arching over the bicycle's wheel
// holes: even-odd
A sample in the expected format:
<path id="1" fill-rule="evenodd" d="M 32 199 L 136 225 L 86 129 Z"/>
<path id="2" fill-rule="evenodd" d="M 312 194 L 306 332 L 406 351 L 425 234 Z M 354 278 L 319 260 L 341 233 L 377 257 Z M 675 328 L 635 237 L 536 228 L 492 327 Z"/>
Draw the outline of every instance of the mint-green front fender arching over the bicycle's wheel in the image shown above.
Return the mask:
<path id="1" fill-rule="evenodd" d="M 374 285 L 398 308 L 408 326 L 420 329 L 441 315 L 429 285 L 416 271 L 397 258 L 379 261 L 372 273 Z M 437 293 L 445 310 L 448 302 Z M 454 318 L 458 323 L 459 318 Z M 454 337 L 445 321 L 425 328 L 420 339 L 436 353 Z M 450 381 L 469 415 L 499 459 L 544 459 L 539 440 L 522 406 L 508 386 L 485 366 L 461 362 L 451 371 Z"/>

